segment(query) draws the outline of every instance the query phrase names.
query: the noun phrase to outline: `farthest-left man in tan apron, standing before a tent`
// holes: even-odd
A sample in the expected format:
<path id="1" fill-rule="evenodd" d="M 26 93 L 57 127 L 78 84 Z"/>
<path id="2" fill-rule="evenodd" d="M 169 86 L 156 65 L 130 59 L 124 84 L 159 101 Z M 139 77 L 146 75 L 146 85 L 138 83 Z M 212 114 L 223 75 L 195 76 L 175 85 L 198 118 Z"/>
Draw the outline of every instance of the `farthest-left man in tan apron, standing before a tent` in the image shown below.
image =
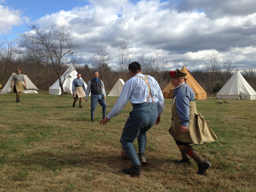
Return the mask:
<path id="1" fill-rule="evenodd" d="M 13 86 L 13 81 L 14 81 L 14 86 Z M 24 75 L 20 74 L 20 68 L 16 70 L 16 73 L 12 75 L 12 80 L 11 80 L 11 88 L 13 88 L 13 93 L 16 93 L 16 102 L 20 102 L 20 93 L 24 92 L 23 88 L 23 81 L 25 83 L 25 87 L 27 86 L 26 84 L 26 79 Z"/>

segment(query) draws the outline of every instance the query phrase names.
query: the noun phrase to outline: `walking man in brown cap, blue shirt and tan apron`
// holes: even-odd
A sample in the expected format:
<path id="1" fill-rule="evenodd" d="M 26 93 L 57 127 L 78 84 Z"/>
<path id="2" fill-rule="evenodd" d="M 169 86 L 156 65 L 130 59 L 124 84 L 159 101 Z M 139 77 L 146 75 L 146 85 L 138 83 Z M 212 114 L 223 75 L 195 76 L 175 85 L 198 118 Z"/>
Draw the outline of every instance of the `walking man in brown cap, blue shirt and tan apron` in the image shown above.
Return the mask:
<path id="1" fill-rule="evenodd" d="M 169 133 L 173 136 L 180 149 L 182 159 L 175 160 L 177 163 L 188 163 L 189 157 L 198 164 L 197 174 L 204 174 L 211 164 L 192 147 L 190 144 L 204 144 L 217 139 L 214 132 L 205 123 L 204 117 L 196 110 L 195 94 L 185 83 L 187 73 L 176 71 L 168 72 L 171 84 L 174 86 L 173 104 L 171 109 L 171 128 Z"/>

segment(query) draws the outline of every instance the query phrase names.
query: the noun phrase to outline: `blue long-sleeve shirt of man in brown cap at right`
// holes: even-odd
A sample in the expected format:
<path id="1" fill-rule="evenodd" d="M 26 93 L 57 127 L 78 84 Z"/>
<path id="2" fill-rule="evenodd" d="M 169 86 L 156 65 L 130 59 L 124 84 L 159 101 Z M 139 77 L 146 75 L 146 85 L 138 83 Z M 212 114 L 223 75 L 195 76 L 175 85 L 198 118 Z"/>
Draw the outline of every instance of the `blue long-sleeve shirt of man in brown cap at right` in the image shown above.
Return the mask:
<path id="1" fill-rule="evenodd" d="M 181 125 L 188 127 L 188 124 L 190 123 L 189 102 L 195 99 L 195 94 L 190 86 L 182 87 L 183 85 L 188 84 L 184 83 L 181 86 L 176 87 L 177 89 L 174 91 L 173 98 L 176 97 L 176 109 L 180 118 Z M 182 89 L 180 89 L 181 87 Z"/>

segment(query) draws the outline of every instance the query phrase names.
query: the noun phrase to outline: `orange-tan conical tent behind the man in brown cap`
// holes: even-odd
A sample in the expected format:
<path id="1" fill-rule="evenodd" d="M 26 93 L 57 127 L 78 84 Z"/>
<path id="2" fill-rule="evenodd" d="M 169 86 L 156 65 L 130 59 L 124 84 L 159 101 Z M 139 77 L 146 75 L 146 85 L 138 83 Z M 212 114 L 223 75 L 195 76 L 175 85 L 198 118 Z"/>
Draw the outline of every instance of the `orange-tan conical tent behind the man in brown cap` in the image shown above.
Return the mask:
<path id="1" fill-rule="evenodd" d="M 180 71 L 187 73 L 186 83 L 192 88 L 195 94 L 195 99 L 206 99 L 206 92 L 192 77 L 188 69 L 184 66 L 182 69 L 180 69 Z M 174 89 L 174 86 L 171 84 L 171 82 L 162 91 L 164 98 L 171 98 L 170 89 Z"/>

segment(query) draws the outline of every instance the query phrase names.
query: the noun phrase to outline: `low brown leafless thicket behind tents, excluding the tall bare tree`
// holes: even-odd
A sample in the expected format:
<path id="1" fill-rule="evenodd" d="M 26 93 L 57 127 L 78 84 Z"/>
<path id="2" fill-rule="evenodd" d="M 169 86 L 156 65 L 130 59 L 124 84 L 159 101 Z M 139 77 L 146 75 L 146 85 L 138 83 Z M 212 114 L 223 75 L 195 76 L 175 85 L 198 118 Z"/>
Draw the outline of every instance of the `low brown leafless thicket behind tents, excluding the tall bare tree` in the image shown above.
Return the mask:
<path id="1" fill-rule="evenodd" d="M 146 63 L 142 60 L 137 60 L 140 64 Z M 231 64 L 231 61 L 228 60 Z M 216 94 L 222 86 L 230 79 L 233 73 L 237 68 L 231 67 L 224 69 L 223 63 L 220 62 L 219 69 L 213 70 L 195 70 L 190 71 L 190 74 L 194 79 L 200 84 L 200 86 L 207 92 L 208 95 Z M 165 70 L 156 70 L 153 63 L 148 62 L 148 69 L 143 69 L 143 74 L 148 74 L 156 78 L 157 82 L 160 85 L 160 88 L 163 89 L 170 83 L 170 78 L 167 76 L 168 69 Z M 145 65 L 144 65 L 145 67 Z M 17 68 L 22 69 L 22 74 L 28 75 L 29 79 L 39 88 L 40 91 L 48 91 L 49 87 L 58 80 L 56 73 L 45 66 L 44 64 L 34 60 L 33 57 L 8 57 L 8 54 L 4 52 L 0 53 L 0 84 L 5 83 L 11 74 L 15 72 Z M 76 71 L 81 73 L 83 80 L 87 83 L 91 78 L 93 78 L 93 71 L 99 71 L 99 78 L 103 80 L 104 77 L 105 89 L 106 91 L 111 91 L 114 84 L 119 78 L 122 78 L 124 81 L 127 81 L 130 76 L 128 69 L 125 68 L 123 71 L 118 69 L 111 69 L 108 66 L 107 69 L 101 69 L 96 65 L 77 65 Z M 175 70 L 175 69 L 172 69 Z M 146 71 L 146 72 L 144 72 Z M 245 80 L 251 85 L 251 87 L 256 89 L 256 67 L 253 65 L 247 65 L 247 68 L 243 69 L 241 72 Z M 212 83 L 213 82 L 213 83 Z M 212 86 L 211 86 L 212 85 Z"/>

